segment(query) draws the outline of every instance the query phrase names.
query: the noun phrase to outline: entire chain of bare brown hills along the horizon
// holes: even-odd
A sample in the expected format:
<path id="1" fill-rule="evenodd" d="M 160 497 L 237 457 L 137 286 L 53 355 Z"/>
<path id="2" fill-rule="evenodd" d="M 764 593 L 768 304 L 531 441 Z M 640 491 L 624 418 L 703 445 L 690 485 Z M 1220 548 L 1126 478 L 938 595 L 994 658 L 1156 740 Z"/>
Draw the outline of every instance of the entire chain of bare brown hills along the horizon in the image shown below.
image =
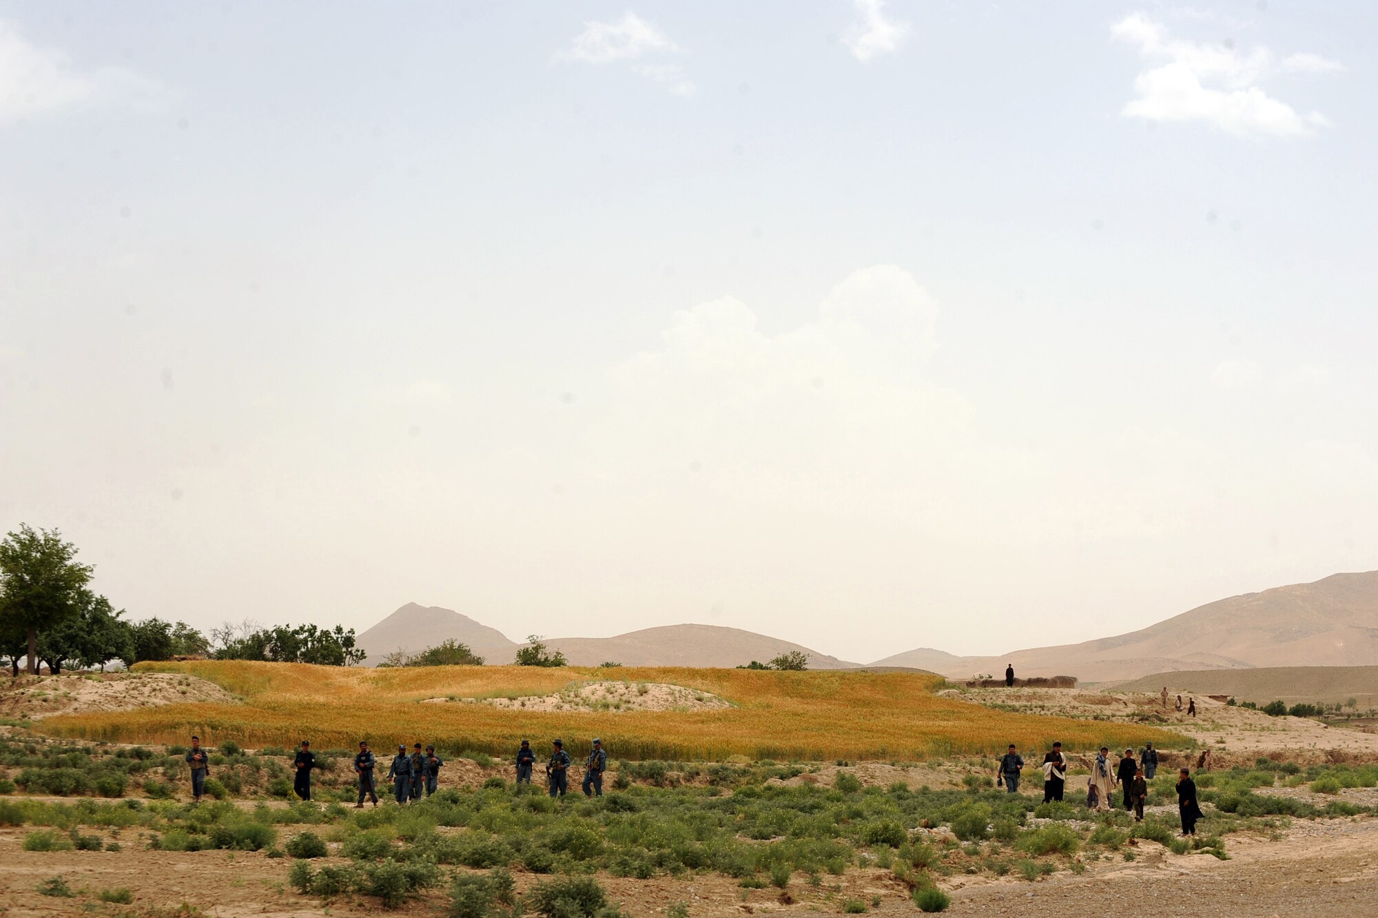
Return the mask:
<path id="1" fill-rule="evenodd" d="M 452 609 L 408 602 L 358 637 L 368 664 L 393 651 L 418 652 L 453 638 L 489 664 L 511 663 L 524 646 L 497 629 Z M 606 638 L 548 638 L 575 666 L 733 667 L 765 663 L 780 653 L 809 655 L 809 669 L 861 664 L 841 660 L 768 634 L 715 624 L 667 624 Z M 999 674 L 1011 663 L 1018 675 L 1075 675 L 1084 682 L 1135 680 L 1182 670 L 1277 666 L 1378 666 L 1378 571 L 1335 573 L 1218 600 L 1146 629 L 1061 646 L 1011 651 L 1000 656 L 955 656 L 916 648 L 870 663 L 966 678 Z"/>

